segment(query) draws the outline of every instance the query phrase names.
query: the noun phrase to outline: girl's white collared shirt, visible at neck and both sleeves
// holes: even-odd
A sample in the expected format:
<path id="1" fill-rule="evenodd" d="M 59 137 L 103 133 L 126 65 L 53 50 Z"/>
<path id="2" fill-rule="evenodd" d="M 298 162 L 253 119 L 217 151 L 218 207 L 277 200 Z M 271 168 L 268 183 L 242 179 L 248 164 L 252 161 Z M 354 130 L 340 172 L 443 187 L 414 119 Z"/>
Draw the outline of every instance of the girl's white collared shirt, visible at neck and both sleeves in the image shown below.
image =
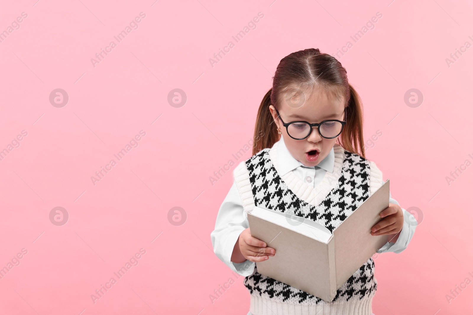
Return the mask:
<path id="1" fill-rule="evenodd" d="M 335 163 L 333 148 L 324 160 L 319 162 L 317 166 L 311 167 L 304 166 L 289 153 L 286 145 L 284 145 L 282 137 L 279 140 L 276 154 L 279 168 L 278 174 L 280 176 L 292 171 L 299 179 L 302 179 L 311 187 L 316 187 L 320 184 L 327 171 L 333 172 Z M 399 205 L 399 203 L 391 197 L 391 193 L 389 193 L 389 203 Z M 408 223 L 411 214 L 404 209 L 402 210 L 405 220 L 403 229 L 399 233 L 397 241 L 395 243 L 387 242 L 377 251 L 377 253 L 394 252 L 398 254 L 406 249 L 407 245 L 411 241 L 415 225 Z M 253 273 L 255 262 L 246 260 L 243 263 L 234 263 L 231 262 L 230 259 L 236 240 L 240 236 L 240 233 L 247 228 L 249 228 L 248 219 L 244 214 L 242 200 L 234 181 L 227 196 L 220 205 L 219 213 L 217 214 L 215 222 L 215 230 L 210 233 L 210 238 L 212 240 L 215 255 L 228 265 L 230 269 L 242 276 L 248 276 Z M 250 268 L 248 268 L 248 265 Z"/>

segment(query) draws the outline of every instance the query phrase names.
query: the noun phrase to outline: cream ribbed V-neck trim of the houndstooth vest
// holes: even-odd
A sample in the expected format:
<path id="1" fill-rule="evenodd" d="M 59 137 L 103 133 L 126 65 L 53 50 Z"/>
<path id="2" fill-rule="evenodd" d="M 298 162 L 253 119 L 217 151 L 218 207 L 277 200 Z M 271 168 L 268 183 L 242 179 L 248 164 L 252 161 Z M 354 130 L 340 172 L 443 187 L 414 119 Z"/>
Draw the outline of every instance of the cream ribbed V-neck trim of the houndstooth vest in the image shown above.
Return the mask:
<path id="1" fill-rule="evenodd" d="M 333 145 L 333 153 L 335 153 L 333 172 L 325 172 L 322 182 L 316 187 L 310 187 L 303 180 L 299 179 L 292 170 L 283 176 L 280 175 L 276 154 L 278 145 L 279 143 L 276 142 L 269 150 L 269 157 L 274 168 L 276 169 L 278 176 L 286 183 L 288 188 L 296 196 L 298 196 L 299 199 L 302 199 L 313 206 L 321 204 L 322 201 L 324 201 L 324 199 L 330 194 L 332 189 L 337 185 L 337 182 L 342 174 L 343 161 L 345 160 L 343 147 L 337 144 Z"/>

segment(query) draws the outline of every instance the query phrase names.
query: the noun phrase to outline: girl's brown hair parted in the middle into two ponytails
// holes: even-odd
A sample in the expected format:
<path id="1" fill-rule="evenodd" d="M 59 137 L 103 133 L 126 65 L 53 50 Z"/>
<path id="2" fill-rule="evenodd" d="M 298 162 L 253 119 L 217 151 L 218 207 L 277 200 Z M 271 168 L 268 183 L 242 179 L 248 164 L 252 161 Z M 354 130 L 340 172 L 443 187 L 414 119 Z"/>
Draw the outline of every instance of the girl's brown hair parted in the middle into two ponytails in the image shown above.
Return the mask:
<path id="1" fill-rule="evenodd" d="M 264 95 L 256 116 L 253 155 L 264 148 L 271 148 L 280 138 L 269 106 L 279 109 L 283 94 L 298 94 L 317 87 L 319 91 L 327 92 L 329 99 L 333 96 L 346 100 L 347 123 L 336 143 L 349 152 L 365 157 L 361 100 L 348 83 L 347 70 L 340 61 L 315 48 L 296 51 L 281 59 L 272 79 L 272 88 Z"/>

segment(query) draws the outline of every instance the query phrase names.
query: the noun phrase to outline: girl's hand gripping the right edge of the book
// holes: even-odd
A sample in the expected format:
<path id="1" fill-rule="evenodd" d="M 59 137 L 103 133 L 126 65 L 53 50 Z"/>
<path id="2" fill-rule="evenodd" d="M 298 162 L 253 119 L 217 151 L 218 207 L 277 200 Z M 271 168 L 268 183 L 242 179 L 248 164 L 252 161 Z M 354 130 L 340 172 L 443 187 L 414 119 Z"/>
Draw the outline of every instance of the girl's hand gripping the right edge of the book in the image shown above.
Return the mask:
<path id="1" fill-rule="evenodd" d="M 389 207 L 379 213 L 379 216 L 383 219 L 373 225 L 371 235 L 388 235 L 389 242 L 395 243 L 403 229 L 403 209 L 397 204 L 389 204 Z"/>

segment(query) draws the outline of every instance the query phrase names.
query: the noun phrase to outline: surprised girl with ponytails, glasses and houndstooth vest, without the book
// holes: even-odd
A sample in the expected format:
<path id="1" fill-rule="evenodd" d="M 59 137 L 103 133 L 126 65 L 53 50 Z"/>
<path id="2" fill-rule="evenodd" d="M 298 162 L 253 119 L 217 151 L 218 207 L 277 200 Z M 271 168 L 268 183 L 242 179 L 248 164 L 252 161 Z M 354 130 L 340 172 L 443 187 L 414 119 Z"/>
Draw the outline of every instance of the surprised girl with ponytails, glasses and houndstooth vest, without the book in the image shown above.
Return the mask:
<path id="1" fill-rule="evenodd" d="M 255 205 L 339 226 L 383 183 L 365 158 L 359 96 L 340 62 L 318 49 L 283 58 L 256 117 L 253 156 L 233 171 L 234 183 L 217 214 L 212 246 L 250 292 L 247 315 L 371 315 L 377 290 L 372 258 L 332 302 L 264 276 L 256 262 L 278 255 L 251 236 L 246 213 Z M 417 222 L 389 199 L 371 235 L 388 235 L 377 253 L 402 252 Z"/>

